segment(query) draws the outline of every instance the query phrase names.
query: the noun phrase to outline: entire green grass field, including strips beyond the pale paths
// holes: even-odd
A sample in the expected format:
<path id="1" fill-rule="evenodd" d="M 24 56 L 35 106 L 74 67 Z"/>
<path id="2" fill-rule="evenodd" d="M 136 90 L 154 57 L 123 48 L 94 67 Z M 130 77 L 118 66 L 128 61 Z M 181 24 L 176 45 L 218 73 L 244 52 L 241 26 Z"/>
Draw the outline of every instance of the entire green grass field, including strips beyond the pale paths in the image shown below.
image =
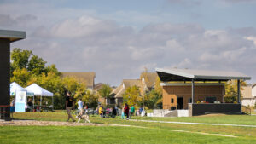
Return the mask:
<path id="1" fill-rule="evenodd" d="M 20 112 L 14 113 L 15 119 L 35 119 L 44 121 L 66 121 L 64 112 Z M 192 118 L 147 118 L 158 121 L 183 121 L 211 124 L 250 124 L 256 125 L 256 116 L 215 115 Z M 1 126 L 0 143 L 256 143 L 256 128 L 161 124 L 119 118 L 90 117 L 90 121 L 106 126 Z M 125 124 L 137 127 L 109 126 Z M 172 130 L 186 130 L 175 132 Z M 224 137 L 207 134 L 235 135 Z"/>

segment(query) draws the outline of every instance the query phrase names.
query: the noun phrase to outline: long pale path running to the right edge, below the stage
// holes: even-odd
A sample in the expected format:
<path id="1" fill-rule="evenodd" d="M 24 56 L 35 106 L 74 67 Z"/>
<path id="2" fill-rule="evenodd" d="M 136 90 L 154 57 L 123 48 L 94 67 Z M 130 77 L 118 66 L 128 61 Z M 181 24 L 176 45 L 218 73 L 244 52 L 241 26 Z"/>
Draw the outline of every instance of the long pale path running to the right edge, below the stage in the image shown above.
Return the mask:
<path id="1" fill-rule="evenodd" d="M 149 122 L 149 123 L 195 124 L 195 125 L 220 125 L 220 126 L 237 126 L 237 127 L 256 128 L 256 125 L 241 125 L 241 124 L 207 124 L 207 123 L 170 122 L 170 121 L 137 120 L 137 119 L 130 119 L 130 120 L 131 120 L 131 121 Z"/>

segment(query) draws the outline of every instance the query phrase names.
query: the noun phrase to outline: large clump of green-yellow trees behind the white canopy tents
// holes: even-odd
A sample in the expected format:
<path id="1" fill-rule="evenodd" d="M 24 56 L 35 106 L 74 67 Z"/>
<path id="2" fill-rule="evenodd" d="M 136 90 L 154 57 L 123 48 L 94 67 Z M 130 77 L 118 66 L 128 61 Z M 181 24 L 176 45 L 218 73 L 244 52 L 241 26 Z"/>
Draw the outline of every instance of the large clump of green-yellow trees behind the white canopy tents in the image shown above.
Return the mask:
<path id="1" fill-rule="evenodd" d="M 55 109 L 65 107 L 66 91 L 71 91 L 74 98 L 82 98 L 90 106 L 96 105 L 96 95 L 88 92 L 86 84 L 75 78 L 62 78 L 55 65 L 46 66 L 46 61 L 33 55 L 30 50 L 15 48 L 11 52 L 11 82 L 23 87 L 36 83 L 54 93 Z M 51 99 L 48 100 L 51 103 Z"/>

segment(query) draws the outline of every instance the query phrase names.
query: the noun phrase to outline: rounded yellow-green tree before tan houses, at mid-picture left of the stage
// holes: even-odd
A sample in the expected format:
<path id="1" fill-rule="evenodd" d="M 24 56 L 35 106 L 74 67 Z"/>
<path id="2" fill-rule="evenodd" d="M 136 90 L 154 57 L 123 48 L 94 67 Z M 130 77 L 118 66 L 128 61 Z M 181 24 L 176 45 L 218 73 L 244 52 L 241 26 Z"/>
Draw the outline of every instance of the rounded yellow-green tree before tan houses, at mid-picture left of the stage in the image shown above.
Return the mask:
<path id="1" fill-rule="evenodd" d="M 123 101 L 130 106 L 141 106 L 143 97 L 140 94 L 139 88 L 135 85 L 125 89 L 123 94 Z"/>

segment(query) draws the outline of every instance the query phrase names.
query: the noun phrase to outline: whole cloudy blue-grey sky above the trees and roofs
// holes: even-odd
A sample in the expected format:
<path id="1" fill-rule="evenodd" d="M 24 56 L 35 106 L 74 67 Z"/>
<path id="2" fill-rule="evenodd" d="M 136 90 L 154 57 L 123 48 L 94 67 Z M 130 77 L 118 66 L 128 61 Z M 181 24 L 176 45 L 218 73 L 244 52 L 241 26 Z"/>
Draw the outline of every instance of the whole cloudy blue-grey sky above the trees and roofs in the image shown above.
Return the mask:
<path id="1" fill-rule="evenodd" d="M 256 0 L 0 0 L 0 29 L 26 31 L 61 72 L 117 86 L 160 68 L 237 71 L 256 83 Z"/>

